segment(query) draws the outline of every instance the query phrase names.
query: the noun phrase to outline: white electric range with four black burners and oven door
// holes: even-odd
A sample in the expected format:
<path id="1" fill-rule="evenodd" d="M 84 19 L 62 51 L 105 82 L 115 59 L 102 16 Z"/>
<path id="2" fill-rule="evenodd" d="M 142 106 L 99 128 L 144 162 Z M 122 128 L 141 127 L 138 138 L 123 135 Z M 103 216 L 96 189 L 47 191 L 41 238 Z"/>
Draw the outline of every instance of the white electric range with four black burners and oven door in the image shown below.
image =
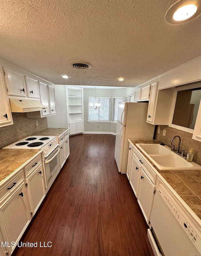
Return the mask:
<path id="1" fill-rule="evenodd" d="M 60 170 L 59 145 L 55 136 L 29 136 L 10 144 L 4 149 L 42 149 L 45 187 Z"/>

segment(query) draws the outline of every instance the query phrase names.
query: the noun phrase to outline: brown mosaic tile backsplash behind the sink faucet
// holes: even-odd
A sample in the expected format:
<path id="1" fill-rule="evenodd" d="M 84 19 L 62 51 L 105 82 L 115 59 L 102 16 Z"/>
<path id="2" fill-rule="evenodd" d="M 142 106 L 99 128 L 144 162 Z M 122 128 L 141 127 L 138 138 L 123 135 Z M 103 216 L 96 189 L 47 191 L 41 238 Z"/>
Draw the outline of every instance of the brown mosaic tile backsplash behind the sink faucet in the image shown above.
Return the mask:
<path id="1" fill-rule="evenodd" d="M 160 127 L 160 134 L 157 133 L 158 127 Z M 166 130 L 166 136 L 163 136 L 163 129 Z M 182 152 L 182 150 L 185 150 L 188 152 L 189 148 L 194 148 L 195 154 L 193 156 L 193 161 L 201 165 L 201 142 L 195 139 L 192 139 L 192 136 L 193 136 L 192 133 L 187 133 L 181 130 L 177 130 L 167 125 L 157 125 L 154 139 L 158 139 L 161 142 L 165 143 L 168 147 L 171 147 L 170 146 L 171 139 L 176 135 L 179 135 L 181 137 L 179 152 Z M 173 145 L 175 145 L 175 149 L 177 149 L 179 139 L 175 138 L 173 142 L 174 142 Z M 185 155 L 186 154 L 187 153 L 185 153 Z"/>

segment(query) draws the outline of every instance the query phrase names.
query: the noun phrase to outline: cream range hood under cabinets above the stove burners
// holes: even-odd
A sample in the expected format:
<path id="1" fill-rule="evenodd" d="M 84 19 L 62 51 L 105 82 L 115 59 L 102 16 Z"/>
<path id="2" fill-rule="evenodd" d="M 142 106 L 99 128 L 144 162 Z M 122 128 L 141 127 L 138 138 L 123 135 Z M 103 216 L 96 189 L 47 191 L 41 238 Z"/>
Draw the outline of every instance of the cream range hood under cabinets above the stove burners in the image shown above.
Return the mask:
<path id="1" fill-rule="evenodd" d="M 24 113 L 47 109 L 47 107 L 42 105 L 38 100 L 20 100 L 10 98 L 9 101 L 11 112 Z"/>

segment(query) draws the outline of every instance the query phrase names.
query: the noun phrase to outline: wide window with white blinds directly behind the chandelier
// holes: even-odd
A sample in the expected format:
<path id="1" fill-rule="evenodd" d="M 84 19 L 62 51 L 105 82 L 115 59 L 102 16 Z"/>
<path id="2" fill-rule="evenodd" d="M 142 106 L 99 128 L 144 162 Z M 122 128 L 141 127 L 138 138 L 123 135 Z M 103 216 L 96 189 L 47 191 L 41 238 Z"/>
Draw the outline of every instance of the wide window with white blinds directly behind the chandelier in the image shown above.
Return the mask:
<path id="1" fill-rule="evenodd" d="M 95 103 L 95 97 L 89 97 L 89 121 L 110 121 L 110 97 L 96 97 L 96 102 L 101 104 L 100 108 L 92 109 L 89 104 Z"/>

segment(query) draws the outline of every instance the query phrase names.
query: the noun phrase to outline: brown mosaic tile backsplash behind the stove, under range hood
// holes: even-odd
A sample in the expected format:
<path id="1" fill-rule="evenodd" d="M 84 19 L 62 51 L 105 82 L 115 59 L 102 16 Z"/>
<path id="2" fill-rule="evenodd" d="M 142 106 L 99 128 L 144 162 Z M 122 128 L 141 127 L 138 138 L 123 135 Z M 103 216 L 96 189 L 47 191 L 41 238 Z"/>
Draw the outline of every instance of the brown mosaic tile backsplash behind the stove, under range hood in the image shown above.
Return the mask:
<path id="1" fill-rule="evenodd" d="M 0 128 L 0 149 L 47 128 L 47 117 L 27 118 L 26 113 L 12 113 L 12 116 L 14 124 Z"/>

